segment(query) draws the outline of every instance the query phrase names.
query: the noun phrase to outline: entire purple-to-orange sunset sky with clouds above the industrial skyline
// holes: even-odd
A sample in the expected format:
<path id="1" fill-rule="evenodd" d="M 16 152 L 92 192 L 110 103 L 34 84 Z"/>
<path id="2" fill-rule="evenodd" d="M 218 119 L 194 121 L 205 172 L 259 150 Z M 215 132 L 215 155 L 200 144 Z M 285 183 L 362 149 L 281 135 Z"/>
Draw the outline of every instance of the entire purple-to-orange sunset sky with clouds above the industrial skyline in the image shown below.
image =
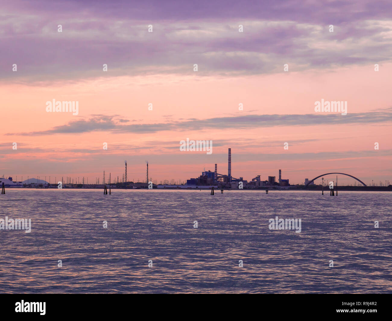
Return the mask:
<path id="1" fill-rule="evenodd" d="M 94 183 L 105 170 L 121 181 L 127 160 L 129 180 L 145 181 L 148 161 L 153 181 L 182 182 L 215 163 L 227 174 L 231 148 L 232 176 L 244 180 L 281 169 L 291 184 L 327 172 L 392 181 L 391 9 L 361 0 L 2 3 L 0 176 Z M 78 102 L 78 113 L 47 112 L 53 99 Z M 316 112 L 321 100 L 347 102 L 347 114 Z M 180 151 L 187 138 L 211 140 L 212 153 Z"/>

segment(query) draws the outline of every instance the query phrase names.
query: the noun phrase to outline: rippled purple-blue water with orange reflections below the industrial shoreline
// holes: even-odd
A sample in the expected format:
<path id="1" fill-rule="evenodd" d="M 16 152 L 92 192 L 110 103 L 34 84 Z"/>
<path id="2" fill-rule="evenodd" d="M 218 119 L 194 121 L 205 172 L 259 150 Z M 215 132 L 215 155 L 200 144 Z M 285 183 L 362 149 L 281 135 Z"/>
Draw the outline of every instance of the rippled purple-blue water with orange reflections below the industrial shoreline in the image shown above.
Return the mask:
<path id="1" fill-rule="evenodd" d="M 0 230 L 2 293 L 392 293 L 390 192 L 6 193 L 32 230 Z"/>

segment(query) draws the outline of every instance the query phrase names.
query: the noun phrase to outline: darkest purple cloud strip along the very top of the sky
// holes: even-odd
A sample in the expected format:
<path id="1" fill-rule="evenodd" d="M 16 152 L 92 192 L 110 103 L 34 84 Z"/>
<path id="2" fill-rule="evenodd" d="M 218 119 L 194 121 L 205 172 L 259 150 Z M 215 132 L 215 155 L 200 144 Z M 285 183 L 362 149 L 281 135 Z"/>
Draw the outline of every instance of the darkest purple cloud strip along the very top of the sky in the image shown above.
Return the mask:
<path id="1" fill-rule="evenodd" d="M 64 16 L 99 18 L 129 18 L 132 20 L 149 20 L 151 22 L 168 20 L 171 22 L 183 20 L 225 20 L 227 18 L 253 19 L 295 19 L 299 22 L 319 22 L 329 24 L 331 17 L 334 22 L 363 20 L 368 18 L 390 18 L 390 3 L 370 0 L 329 1 L 317 0 L 276 0 L 258 2 L 254 0 L 200 0 L 195 5 L 181 0 L 151 0 L 149 2 L 132 2 L 127 0 L 67 1 L 40 0 L 27 2 L 14 0 L 3 5 L 6 11 L 29 13 L 31 15 L 48 16 L 57 14 Z M 195 26 L 197 27 L 197 25 Z"/>

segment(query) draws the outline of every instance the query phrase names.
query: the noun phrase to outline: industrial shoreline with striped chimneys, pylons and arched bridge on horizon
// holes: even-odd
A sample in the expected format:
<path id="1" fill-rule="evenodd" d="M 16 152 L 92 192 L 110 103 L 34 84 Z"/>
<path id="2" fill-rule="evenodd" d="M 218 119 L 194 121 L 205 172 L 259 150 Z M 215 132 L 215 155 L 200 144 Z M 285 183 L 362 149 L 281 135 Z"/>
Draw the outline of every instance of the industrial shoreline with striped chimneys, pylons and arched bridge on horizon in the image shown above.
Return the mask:
<path id="1" fill-rule="evenodd" d="M 106 186 L 109 186 L 109 191 L 111 189 L 221 189 L 223 190 L 238 190 L 238 189 L 320 189 L 323 190 L 325 186 L 329 184 L 327 180 L 324 180 L 322 176 L 330 175 L 330 174 L 339 174 L 349 176 L 354 178 L 358 181 L 358 188 L 359 187 L 367 187 L 367 185 L 350 174 L 340 173 L 340 172 L 333 172 L 333 173 L 326 173 L 319 175 L 312 180 L 305 178 L 305 183 L 290 185 L 289 180 L 282 179 L 282 170 L 279 169 L 279 178 L 278 181 L 276 180 L 276 176 L 267 176 L 266 180 L 261 179 L 261 175 L 256 175 L 256 177 L 252 178 L 252 180 L 247 181 L 244 180 L 243 177 L 235 178 L 231 175 L 231 148 L 228 150 L 228 158 L 227 158 L 227 174 L 219 174 L 218 173 L 218 164 L 215 164 L 215 169 L 212 172 L 211 170 L 205 170 L 201 172 L 201 175 L 197 178 L 190 178 L 189 180 L 182 181 L 180 183 L 176 182 L 175 180 L 164 180 L 157 182 L 157 180 L 153 181 L 151 176 L 149 176 L 149 162 L 146 161 L 146 176 L 145 181 L 129 181 L 128 174 L 127 174 L 127 161 L 125 163 L 125 172 L 122 175 L 122 178 L 119 176 L 111 177 L 111 173 L 105 172 L 103 170 L 103 179 L 100 183 L 100 178 L 95 178 L 95 183 L 89 184 L 89 179 L 85 179 L 85 177 L 75 177 L 72 178 L 71 176 L 65 177 L 54 177 L 54 183 L 52 183 L 51 177 L 49 176 L 49 182 L 46 181 L 47 176 L 45 176 L 45 180 L 41 180 L 40 176 L 36 178 L 30 178 L 27 176 L 27 180 L 18 181 L 17 176 L 16 180 L 14 181 L 12 177 L 6 179 L 3 177 L 0 178 L 0 185 L 4 187 L 11 187 L 11 188 L 64 188 L 64 189 L 74 189 L 74 188 L 85 188 L 85 189 L 106 189 Z M 108 175 L 109 174 L 109 175 Z M 322 177 L 322 178 L 321 178 Z M 316 184 L 316 180 L 321 178 L 322 183 Z M 91 182 L 91 181 L 90 181 Z M 332 183 L 335 184 L 333 181 Z M 336 176 L 336 185 L 338 185 L 338 177 Z M 392 190 L 392 185 L 390 185 L 388 180 L 385 180 L 385 184 L 383 182 L 377 183 L 372 181 L 372 184 L 369 186 L 372 189 L 379 190 L 379 189 L 387 189 Z M 346 186 L 349 190 L 352 188 L 356 188 L 356 183 L 354 185 Z M 377 187 L 379 189 L 377 189 Z"/>

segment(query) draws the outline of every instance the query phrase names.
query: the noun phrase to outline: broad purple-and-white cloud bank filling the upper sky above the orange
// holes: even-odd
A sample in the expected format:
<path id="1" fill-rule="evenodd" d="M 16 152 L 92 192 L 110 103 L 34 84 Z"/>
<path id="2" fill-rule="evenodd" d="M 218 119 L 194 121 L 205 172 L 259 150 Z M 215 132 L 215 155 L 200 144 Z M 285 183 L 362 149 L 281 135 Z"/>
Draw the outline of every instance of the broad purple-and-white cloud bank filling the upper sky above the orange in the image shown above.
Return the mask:
<path id="1" fill-rule="evenodd" d="M 41 0 L 34 6 L 16 1 L 5 5 L 0 19 L 5 49 L 0 51 L 0 79 L 76 81 L 102 76 L 103 63 L 110 76 L 191 74 L 194 63 L 200 75 L 233 76 L 282 72 L 283 63 L 299 71 L 386 62 L 392 51 L 387 7 L 365 1 L 197 6 L 114 1 L 109 7 L 99 1 L 93 6 L 89 1 Z"/>

